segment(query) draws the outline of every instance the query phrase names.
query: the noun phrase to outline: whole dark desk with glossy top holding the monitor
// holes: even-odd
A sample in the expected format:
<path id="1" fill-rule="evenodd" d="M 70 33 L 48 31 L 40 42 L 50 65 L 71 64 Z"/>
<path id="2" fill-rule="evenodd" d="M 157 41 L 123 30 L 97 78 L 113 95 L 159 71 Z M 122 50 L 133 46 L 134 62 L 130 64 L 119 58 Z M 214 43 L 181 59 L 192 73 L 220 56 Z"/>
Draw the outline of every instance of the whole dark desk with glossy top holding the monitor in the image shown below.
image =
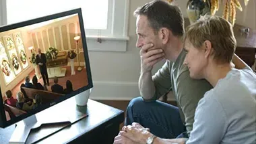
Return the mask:
<path id="1" fill-rule="evenodd" d="M 38 143 L 113 143 L 113 139 L 119 133 L 119 125 L 124 120 L 123 111 L 94 100 L 88 100 L 88 106 L 76 106 L 74 98 L 69 98 L 62 104 L 65 105 L 63 111 L 67 111 L 67 113 L 73 111 L 74 114 L 79 111 L 79 113 L 87 113 L 88 117 L 38 141 Z M 39 130 L 33 130 L 26 143 L 33 143 L 51 129 L 56 129 L 56 127 L 44 125 Z M 8 143 L 13 130 L 14 125 L 0 129 L 1 144 Z"/>

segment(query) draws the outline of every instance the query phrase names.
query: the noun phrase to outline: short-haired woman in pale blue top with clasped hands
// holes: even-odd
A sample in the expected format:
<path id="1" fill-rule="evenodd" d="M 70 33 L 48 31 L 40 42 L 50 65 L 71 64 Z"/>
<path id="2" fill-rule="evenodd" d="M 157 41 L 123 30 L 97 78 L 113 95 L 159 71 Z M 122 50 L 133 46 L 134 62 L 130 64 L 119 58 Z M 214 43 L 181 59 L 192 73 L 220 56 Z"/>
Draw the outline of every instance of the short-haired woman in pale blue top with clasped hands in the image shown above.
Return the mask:
<path id="1" fill-rule="evenodd" d="M 154 143 L 255 143 L 256 74 L 234 54 L 235 48 L 232 25 L 222 17 L 205 15 L 189 25 L 184 64 L 191 78 L 205 78 L 214 88 L 199 100 L 188 140 L 156 137 Z M 146 143 L 152 137 L 137 123 L 122 130 L 117 143 Z"/>

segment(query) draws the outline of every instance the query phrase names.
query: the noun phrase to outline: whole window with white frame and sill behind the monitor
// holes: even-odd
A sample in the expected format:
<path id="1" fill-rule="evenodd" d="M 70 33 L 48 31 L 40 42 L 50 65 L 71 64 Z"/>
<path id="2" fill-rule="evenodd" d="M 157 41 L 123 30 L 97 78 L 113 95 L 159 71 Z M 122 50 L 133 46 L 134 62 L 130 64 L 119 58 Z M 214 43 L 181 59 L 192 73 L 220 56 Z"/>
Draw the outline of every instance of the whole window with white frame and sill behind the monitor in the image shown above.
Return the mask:
<path id="1" fill-rule="evenodd" d="M 88 46 L 89 50 L 126 51 L 126 41 L 129 40 L 127 37 L 129 0 L 1 0 L 0 25 L 17 23 L 77 7 L 82 8 L 88 45 L 94 47 Z M 97 38 L 106 40 L 108 46 L 102 43 L 95 47 L 94 42 Z M 111 46 L 109 46 L 110 41 L 113 41 Z M 118 43 L 119 46 L 114 43 Z M 106 50 L 106 48 L 112 48 L 112 50 Z"/>

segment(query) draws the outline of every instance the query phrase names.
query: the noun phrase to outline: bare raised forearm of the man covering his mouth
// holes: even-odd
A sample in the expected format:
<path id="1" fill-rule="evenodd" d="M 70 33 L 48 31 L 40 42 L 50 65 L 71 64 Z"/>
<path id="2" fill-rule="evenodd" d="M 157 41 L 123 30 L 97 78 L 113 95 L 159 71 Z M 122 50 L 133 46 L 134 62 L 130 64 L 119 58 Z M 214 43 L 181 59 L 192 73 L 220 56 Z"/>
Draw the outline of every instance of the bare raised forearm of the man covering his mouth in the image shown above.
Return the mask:
<path id="1" fill-rule="evenodd" d="M 141 72 L 139 76 L 139 93 L 144 99 L 151 99 L 155 94 L 155 86 L 151 72 Z"/>

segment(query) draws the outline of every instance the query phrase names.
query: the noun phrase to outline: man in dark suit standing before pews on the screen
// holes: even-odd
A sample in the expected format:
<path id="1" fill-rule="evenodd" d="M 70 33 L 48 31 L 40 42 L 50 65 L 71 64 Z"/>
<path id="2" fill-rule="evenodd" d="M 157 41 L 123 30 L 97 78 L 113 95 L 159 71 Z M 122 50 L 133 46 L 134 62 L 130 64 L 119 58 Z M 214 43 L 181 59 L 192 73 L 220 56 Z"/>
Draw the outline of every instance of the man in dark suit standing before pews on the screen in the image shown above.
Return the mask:
<path id="1" fill-rule="evenodd" d="M 49 78 L 48 78 L 48 73 L 47 73 L 47 68 L 46 68 L 46 56 L 41 52 L 41 49 L 38 48 L 38 54 L 36 55 L 36 64 L 38 64 L 40 73 L 42 75 L 42 79 L 44 80 L 44 86 L 47 85 L 49 86 Z"/>

